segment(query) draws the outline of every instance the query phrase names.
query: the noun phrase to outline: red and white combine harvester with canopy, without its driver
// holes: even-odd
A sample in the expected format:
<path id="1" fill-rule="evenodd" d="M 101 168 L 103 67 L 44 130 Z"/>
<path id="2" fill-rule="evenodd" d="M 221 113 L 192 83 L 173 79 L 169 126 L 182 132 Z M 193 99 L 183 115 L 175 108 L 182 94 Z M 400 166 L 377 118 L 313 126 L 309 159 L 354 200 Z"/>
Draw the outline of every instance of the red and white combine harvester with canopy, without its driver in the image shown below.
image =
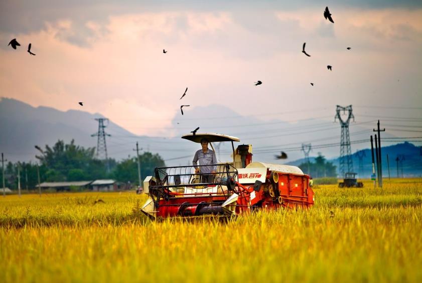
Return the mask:
<path id="1" fill-rule="evenodd" d="M 231 216 L 258 209 L 310 207 L 314 191 L 309 176 L 296 166 L 252 162 L 252 145 L 234 148 L 236 137 L 221 134 L 182 136 L 200 143 L 231 142 L 233 162 L 217 164 L 216 173 L 204 182 L 195 166 L 156 168 L 144 181 L 149 194 L 142 211 L 151 219 L 199 215 Z M 193 154 L 192 154 L 193 156 Z M 202 166 L 197 166 L 201 168 Z"/>

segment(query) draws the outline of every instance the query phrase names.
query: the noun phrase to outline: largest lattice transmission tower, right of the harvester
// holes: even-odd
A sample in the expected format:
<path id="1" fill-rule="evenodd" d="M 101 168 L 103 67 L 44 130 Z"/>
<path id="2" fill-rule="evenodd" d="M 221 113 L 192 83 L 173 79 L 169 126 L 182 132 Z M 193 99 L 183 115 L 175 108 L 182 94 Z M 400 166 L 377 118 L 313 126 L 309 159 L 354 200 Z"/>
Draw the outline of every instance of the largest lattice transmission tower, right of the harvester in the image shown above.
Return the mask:
<path id="1" fill-rule="evenodd" d="M 343 114 L 348 112 L 347 119 L 343 120 L 340 113 L 343 111 Z M 336 116 L 334 117 L 334 122 L 339 119 L 341 125 L 341 138 L 340 138 L 340 174 L 344 176 L 345 173 L 353 172 L 353 161 L 352 161 L 352 149 L 350 146 L 350 134 L 349 134 L 349 122 L 351 119 L 355 121 L 355 116 L 353 116 L 352 106 L 342 107 L 337 105 Z"/>

